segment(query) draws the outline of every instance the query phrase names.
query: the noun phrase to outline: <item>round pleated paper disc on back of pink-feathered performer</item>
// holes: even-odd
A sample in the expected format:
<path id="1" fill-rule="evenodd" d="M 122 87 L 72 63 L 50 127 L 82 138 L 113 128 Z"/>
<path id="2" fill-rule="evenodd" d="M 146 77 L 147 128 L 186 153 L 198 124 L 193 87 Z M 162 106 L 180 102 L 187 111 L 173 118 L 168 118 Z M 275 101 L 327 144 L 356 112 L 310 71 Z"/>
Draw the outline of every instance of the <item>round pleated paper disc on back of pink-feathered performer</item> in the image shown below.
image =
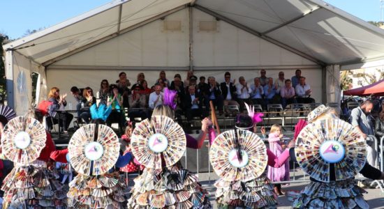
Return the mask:
<path id="1" fill-rule="evenodd" d="M 238 150 L 241 150 L 242 157 L 239 157 Z M 214 171 L 224 180 L 248 181 L 265 171 L 267 148 L 253 132 L 228 130 L 214 140 L 209 159 Z"/>

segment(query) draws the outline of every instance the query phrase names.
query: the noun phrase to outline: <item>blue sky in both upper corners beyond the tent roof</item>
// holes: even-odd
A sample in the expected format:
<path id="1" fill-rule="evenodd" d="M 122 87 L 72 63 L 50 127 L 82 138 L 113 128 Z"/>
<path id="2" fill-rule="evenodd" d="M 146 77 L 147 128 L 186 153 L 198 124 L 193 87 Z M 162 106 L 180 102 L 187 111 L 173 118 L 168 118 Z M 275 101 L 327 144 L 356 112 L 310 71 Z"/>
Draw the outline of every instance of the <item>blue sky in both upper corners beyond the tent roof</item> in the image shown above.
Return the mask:
<path id="1" fill-rule="evenodd" d="M 111 0 L 2 0 L 0 33 L 11 39 L 49 27 Z M 380 21 L 380 0 L 325 0 L 365 21 Z"/>

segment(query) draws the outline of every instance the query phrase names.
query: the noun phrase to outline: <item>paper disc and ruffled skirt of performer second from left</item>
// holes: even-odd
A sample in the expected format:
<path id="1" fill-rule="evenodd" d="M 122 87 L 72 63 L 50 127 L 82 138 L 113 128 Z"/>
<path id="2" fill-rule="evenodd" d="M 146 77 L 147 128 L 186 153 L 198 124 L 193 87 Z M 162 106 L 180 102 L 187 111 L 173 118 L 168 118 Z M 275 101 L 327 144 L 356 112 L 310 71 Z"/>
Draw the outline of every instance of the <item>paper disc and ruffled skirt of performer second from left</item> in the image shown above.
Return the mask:
<path id="1" fill-rule="evenodd" d="M 68 155 L 78 174 L 69 183 L 68 207 L 126 208 L 124 180 L 119 172 L 108 173 L 119 147 L 117 135 L 106 125 L 84 125 L 73 134 Z"/>

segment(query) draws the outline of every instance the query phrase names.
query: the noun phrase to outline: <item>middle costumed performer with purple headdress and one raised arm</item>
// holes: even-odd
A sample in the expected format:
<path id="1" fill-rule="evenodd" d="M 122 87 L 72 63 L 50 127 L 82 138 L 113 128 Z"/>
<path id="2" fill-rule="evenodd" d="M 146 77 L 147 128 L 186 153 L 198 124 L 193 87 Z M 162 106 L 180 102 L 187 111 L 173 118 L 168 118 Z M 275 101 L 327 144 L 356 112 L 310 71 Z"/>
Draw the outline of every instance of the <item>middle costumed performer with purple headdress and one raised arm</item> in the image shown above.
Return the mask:
<path id="1" fill-rule="evenodd" d="M 131 138 L 131 149 L 133 154 L 141 164 L 147 164 L 147 166 L 149 163 L 152 164 L 152 162 L 147 162 L 147 157 L 139 156 L 141 155 L 139 150 L 141 148 L 147 148 L 147 146 L 140 146 L 140 141 L 149 141 L 156 136 L 155 134 L 140 135 L 144 134 L 142 131 L 146 131 L 147 124 L 158 125 L 159 129 L 165 128 L 163 132 L 160 132 L 168 137 L 180 137 L 172 139 L 172 143 L 186 143 L 184 144 L 184 148 L 185 146 L 189 148 L 201 148 L 205 136 L 208 132 L 213 131 L 212 129 L 208 130 L 209 119 L 206 118 L 202 121 L 202 134 L 200 134 L 198 140 L 185 134 L 182 128 L 171 119 L 175 118 L 175 111 L 173 111 L 172 108 L 176 107 L 174 103 L 176 92 L 169 91 L 168 88 L 165 88 L 164 91 L 165 105 L 155 107 L 152 113 L 152 121 L 149 122 L 147 119 L 136 124 Z M 167 121 L 166 124 L 168 125 L 165 125 L 165 122 L 161 124 L 161 121 Z M 175 128 L 176 130 L 173 131 L 177 132 L 177 134 L 169 135 L 172 129 L 168 129 L 167 127 Z M 159 130 L 156 130 L 156 134 L 160 132 Z M 186 141 L 183 140 L 183 137 L 185 137 L 184 140 L 186 139 Z M 161 137 L 161 142 L 158 142 L 161 143 L 161 146 L 163 145 L 163 139 L 164 138 Z M 165 139 L 168 140 L 167 137 L 165 137 Z M 155 138 L 155 140 L 157 139 Z M 183 146 L 177 147 L 179 148 Z M 149 148 L 151 148 L 151 146 L 149 146 Z M 157 166 L 152 167 L 151 165 L 151 167 L 145 167 L 142 175 L 135 178 L 135 186 L 131 191 L 132 196 L 128 199 L 128 208 L 212 208 L 207 197 L 208 192 L 205 189 L 202 189 L 198 182 L 198 177 L 187 169 L 183 169 L 182 164 L 179 162 L 179 157 L 181 157 L 181 154 L 184 153 L 184 151 L 182 152 L 179 150 L 177 152 L 178 155 L 175 153 L 175 156 L 172 155 L 172 157 L 170 157 L 164 154 L 164 152 L 168 150 L 171 150 L 171 147 L 167 146 L 167 149 L 161 153 L 162 157 L 160 157 L 160 159 L 156 158 L 158 160 L 156 160 L 154 164 Z M 155 153 L 152 150 L 148 150 L 148 152 Z M 150 156 L 152 156 L 152 154 Z M 158 153 L 156 153 L 156 156 L 158 156 Z"/>

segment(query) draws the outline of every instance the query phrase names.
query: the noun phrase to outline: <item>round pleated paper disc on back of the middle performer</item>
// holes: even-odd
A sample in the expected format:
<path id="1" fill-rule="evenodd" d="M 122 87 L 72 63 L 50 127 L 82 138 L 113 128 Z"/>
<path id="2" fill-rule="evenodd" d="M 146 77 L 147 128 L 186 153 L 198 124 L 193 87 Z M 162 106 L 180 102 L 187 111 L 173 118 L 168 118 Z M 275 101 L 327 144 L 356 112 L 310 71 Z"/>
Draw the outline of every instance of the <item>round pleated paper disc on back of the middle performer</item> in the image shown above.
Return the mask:
<path id="1" fill-rule="evenodd" d="M 182 127 L 166 116 L 152 116 L 136 124 L 131 136 L 132 153 L 145 167 L 161 169 L 161 156 L 165 166 L 180 160 L 186 149 Z"/>

